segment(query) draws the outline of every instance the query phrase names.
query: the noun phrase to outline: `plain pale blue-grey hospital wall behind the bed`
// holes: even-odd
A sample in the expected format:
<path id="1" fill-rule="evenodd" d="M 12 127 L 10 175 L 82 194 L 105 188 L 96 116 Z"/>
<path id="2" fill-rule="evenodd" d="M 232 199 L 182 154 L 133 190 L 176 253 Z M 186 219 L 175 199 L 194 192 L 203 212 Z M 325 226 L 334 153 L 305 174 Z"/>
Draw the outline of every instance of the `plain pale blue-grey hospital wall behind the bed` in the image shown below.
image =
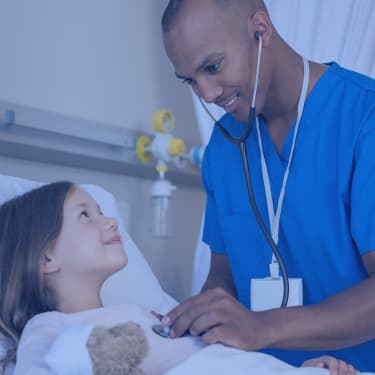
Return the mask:
<path id="1" fill-rule="evenodd" d="M 144 132 L 151 131 L 153 112 L 168 108 L 176 119 L 174 135 L 199 144 L 190 93 L 163 51 L 166 3 L 0 0 L 0 100 Z M 178 300 L 189 295 L 201 186 L 177 186 L 173 236 L 157 239 L 150 234 L 151 180 L 29 159 L 0 150 L 0 173 L 103 186 L 124 202 L 127 229 L 164 289 Z"/>

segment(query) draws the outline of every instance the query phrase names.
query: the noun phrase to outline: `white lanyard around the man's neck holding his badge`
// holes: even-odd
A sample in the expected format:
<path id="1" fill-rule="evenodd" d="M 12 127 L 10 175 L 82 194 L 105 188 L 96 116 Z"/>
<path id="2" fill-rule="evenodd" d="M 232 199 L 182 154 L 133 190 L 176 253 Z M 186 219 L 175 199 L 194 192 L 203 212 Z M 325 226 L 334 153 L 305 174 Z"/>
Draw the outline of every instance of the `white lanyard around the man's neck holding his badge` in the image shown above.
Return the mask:
<path id="1" fill-rule="evenodd" d="M 259 130 L 259 119 L 258 117 L 256 118 L 256 129 L 258 133 L 262 177 L 263 177 L 264 190 L 266 193 L 268 218 L 270 221 L 271 236 L 276 245 L 279 242 L 279 226 L 280 226 L 281 210 L 283 207 L 283 202 L 284 202 L 284 197 L 285 197 L 285 188 L 286 188 L 286 184 L 287 184 L 288 177 L 289 177 L 290 164 L 293 158 L 294 146 L 296 143 L 297 133 L 298 133 L 298 129 L 299 129 L 299 125 L 301 122 L 302 113 L 303 113 L 303 107 L 304 107 L 305 100 L 306 100 L 307 88 L 309 85 L 309 75 L 310 75 L 309 63 L 306 58 L 303 58 L 303 83 L 302 83 L 301 93 L 300 93 L 299 100 L 298 100 L 296 125 L 294 128 L 293 141 L 292 141 L 292 146 L 291 146 L 290 153 L 289 153 L 289 160 L 288 160 L 288 164 L 284 173 L 283 184 L 281 186 L 279 199 L 277 202 L 276 214 L 275 214 L 273 201 L 272 201 L 271 185 L 270 185 L 270 179 L 268 176 L 267 164 L 266 164 L 266 160 L 264 158 L 264 153 L 263 153 L 262 137 L 260 135 L 260 130 Z M 274 254 L 272 254 L 272 263 L 275 263 L 275 262 L 277 262 L 276 257 Z"/>

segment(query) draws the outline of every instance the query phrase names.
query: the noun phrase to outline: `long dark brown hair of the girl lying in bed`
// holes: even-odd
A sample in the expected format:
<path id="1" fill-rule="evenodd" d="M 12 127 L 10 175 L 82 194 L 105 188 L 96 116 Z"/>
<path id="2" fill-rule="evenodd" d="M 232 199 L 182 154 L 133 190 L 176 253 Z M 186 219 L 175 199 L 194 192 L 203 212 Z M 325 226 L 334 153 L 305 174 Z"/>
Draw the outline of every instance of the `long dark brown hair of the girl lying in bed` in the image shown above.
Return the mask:
<path id="1" fill-rule="evenodd" d="M 0 358 L 3 371 L 16 359 L 22 330 L 34 315 L 54 310 L 42 264 L 62 227 L 71 182 L 44 185 L 0 206 L 0 334 L 11 349 Z"/>

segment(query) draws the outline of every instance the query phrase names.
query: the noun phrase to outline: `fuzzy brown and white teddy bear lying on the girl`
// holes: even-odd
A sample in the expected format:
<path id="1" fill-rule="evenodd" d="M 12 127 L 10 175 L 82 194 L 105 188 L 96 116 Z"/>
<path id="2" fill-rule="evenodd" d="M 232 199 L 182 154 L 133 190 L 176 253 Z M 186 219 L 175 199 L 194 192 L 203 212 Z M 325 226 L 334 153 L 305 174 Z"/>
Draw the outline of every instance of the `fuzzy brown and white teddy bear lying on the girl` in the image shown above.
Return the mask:
<path id="1" fill-rule="evenodd" d="M 44 361 L 55 375 L 144 375 L 141 364 L 147 354 L 142 327 L 129 321 L 69 327 L 56 337 Z"/>

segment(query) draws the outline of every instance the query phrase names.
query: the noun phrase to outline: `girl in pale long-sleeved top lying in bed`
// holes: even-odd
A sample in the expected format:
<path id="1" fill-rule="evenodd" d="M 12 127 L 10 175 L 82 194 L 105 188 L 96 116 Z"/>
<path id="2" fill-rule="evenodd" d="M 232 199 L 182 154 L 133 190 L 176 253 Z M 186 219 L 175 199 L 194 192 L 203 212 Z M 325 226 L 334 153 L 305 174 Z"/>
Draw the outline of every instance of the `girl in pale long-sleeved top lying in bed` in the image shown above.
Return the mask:
<path id="1" fill-rule="evenodd" d="M 87 323 L 140 324 L 150 348 L 142 364 L 146 374 L 162 374 L 201 349 L 199 338 L 154 334 L 157 318 L 139 306 L 102 306 L 104 281 L 126 264 L 117 222 L 70 182 L 45 185 L 1 205 L 0 331 L 10 341 L 3 369 L 17 357 L 15 375 L 51 374 L 44 356 L 54 339 L 65 328 Z M 332 357 L 314 361 L 310 365 L 332 374 L 355 373 Z"/>

